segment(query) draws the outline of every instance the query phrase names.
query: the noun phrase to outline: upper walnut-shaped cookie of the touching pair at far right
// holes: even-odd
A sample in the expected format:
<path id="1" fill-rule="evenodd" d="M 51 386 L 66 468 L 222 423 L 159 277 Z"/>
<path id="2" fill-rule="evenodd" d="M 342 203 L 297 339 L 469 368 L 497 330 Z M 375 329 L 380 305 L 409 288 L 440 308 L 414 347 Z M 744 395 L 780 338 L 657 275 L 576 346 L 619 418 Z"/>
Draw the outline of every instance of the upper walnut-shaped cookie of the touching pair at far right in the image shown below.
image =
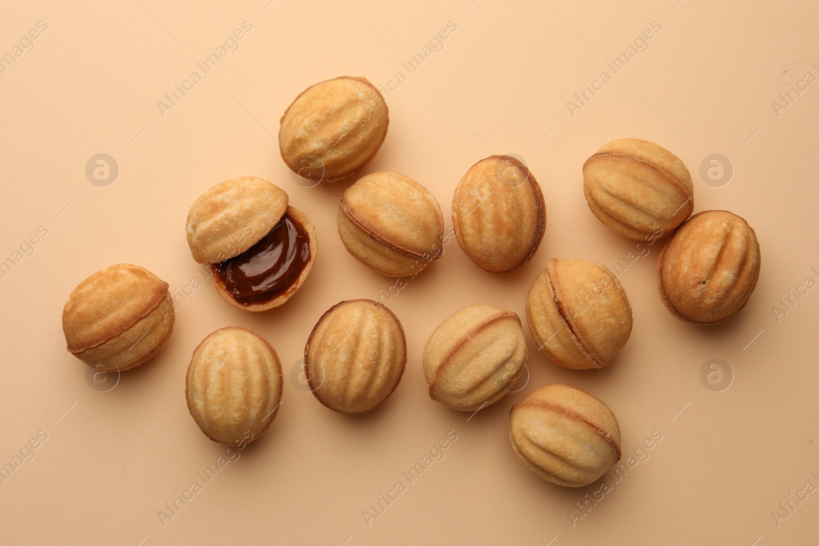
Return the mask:
<path id="1" fill-rule="evenodd" d="M 591 212 L 613 232 L 646 241 L 663 237 L 694 210 L 694 185 L 682 160 L 665 148 L 621 138 L 583 165 Z"/>

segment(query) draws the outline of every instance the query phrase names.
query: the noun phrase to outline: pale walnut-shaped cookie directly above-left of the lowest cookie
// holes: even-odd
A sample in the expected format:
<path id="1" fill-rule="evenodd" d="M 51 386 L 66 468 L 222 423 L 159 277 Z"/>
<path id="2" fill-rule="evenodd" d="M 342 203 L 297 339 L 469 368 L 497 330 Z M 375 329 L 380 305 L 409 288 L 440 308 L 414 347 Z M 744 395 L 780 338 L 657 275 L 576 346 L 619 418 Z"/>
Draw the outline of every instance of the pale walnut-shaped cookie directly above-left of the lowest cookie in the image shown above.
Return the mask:
<path id="1" fill-rule="evenodd" d="M 473 412 L 513 390 L 528 358 L 517 314 L 496 305 L 468 305 L 429 336 L 423 375 L 430 398 Z"/>

